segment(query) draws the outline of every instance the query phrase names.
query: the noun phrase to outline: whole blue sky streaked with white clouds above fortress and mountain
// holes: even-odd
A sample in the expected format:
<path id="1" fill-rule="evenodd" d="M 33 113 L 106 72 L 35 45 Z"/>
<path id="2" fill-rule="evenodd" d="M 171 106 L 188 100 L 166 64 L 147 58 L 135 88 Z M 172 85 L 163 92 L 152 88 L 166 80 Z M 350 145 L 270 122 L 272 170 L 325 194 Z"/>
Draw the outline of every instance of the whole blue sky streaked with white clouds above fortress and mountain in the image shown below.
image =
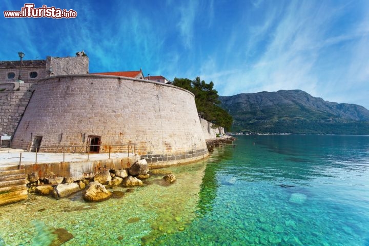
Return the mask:
<path id="1" fill-rule="evenodd" d="M 301 89 L 369 109 L 367 0 L 14 1 L 76 18 L 1 17 L 0 60 L 74 56 L 90 72 L 139 70 L 213 81 L 220 95 Z"/>

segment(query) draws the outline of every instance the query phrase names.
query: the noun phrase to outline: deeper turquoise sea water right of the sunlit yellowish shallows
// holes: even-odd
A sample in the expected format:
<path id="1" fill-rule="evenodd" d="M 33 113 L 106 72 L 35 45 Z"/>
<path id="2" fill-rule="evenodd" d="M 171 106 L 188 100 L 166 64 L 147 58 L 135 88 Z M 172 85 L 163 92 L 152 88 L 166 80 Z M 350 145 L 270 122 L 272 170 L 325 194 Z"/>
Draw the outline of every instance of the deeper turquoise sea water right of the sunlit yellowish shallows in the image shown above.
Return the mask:
<path id="1" fill-rule="evenodd" d="M 369 136 L 239 136 L 167 245 L 369 245 Z"/>

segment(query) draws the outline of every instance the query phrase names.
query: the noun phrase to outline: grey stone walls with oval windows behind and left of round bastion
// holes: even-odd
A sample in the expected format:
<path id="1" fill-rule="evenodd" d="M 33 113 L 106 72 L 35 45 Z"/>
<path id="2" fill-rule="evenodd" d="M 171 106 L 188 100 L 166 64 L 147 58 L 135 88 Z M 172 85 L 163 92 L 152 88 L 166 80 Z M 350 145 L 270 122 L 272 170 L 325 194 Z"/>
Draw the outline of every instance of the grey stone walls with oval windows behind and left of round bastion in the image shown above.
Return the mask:
<path id="1" fill-rule="evenodd" d="M 46 60 L 0 61 L 0 136 L 13 136 L 39 79 L 88 73 L 87 56 L 51 57 Z M 7 141 L 3 144 L 8 146 Z"/>

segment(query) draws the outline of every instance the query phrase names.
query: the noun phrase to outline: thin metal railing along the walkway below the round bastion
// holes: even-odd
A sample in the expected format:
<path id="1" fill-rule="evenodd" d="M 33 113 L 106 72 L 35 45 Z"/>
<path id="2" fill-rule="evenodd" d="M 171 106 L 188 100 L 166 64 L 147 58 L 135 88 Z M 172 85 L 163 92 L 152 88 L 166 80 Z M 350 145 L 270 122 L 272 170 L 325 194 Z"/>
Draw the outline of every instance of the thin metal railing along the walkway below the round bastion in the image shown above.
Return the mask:
<path id="1" fill-rule="evenodd" d="M 81 151 L 76 151 L 76 148 L 81 147 L 81 150 L 83 150 L 83 148 L 86 148 L 85 152 L 81 152 Z M 91 147 L 99 147 L 98 149 L 100 150 L 101 147 L 107 147 L 108 148 L 108 152 L 94 152 L 94 151 L 90 151 Z M 86 153 L 87 154 L 87 160 L 90 159 L 90 154 L 103 154 L 103 153 L 109 153 L 109 159 L 110 159 L 110 154 L 111 154 L 111 150 L 112 147 L 127 147 L 127 152 L 124 152 L 122 149 L 118 149 L 115 148 L 114 153 L 128 153 L 128 157 L 130 154 L 130 148 L 131 148 L 131 154 L 136 155 L 136 144 L 133 143 L 129 143 L 129 144 L 121 144 L 121 145 L 64 145 L 64 146 L 30 146 L 30 150 L 35 150 L 35 162 L 37 163 L 37 153 L 39 153 L 39 149 L 53 149 L 55 148 L 56 151 L 54 153 L 56 153 L 59 149 L 63 150 L 63 162 L 65 161 L 65 154 L 66 154 L 66 149 L 74 149 L 74 151 L 70 151 L 67 153 Z M 123 148 L 125 149 L 125 148 Z M 33 152 L 33 151 L 29 151 L 29 152 Z M 48 153 L 48 152 L 43 152 L 43 153 Z M 61 153 L 61 152 L 59 152 Z M 22 159 L 22 153 L 20 155 L 19 158 L 19 167 L 20 167 L 20 162 Z"/>

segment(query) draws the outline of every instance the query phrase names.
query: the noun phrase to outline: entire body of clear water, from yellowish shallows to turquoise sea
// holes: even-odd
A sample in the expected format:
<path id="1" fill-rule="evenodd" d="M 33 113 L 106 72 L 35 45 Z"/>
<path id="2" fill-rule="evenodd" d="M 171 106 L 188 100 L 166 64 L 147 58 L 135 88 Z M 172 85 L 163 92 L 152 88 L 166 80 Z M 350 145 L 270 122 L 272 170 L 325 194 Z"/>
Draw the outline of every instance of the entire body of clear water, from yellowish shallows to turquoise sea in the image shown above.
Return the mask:
<path id="1" fill-rule="evenodd" d="M 53 227 L 73 234 L 63 245 L 369 245 L 369 136 L 235 144 L 166 168 L 177 177 L 168 187 L 158 175 L 120 199 L 30 196 L 4 206 L 0 238 L 39 245 Z"/>

